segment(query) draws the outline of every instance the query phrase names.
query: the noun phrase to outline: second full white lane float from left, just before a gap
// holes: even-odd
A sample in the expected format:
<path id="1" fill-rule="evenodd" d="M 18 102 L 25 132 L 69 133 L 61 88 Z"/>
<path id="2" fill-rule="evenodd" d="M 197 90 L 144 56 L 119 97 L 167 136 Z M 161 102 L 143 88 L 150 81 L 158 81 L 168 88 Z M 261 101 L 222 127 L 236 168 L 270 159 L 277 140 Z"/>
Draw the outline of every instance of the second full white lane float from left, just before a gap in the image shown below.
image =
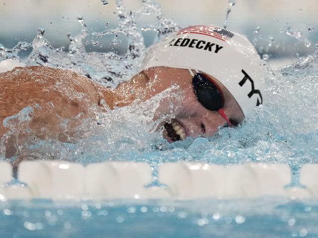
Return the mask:
<path id="1" fill-rule="evenodd" d="M 88 199 L 147 199 L 145 185 L 152 182 L 152 170 L 146 163 L 89 164 L 85 175 Z"/>

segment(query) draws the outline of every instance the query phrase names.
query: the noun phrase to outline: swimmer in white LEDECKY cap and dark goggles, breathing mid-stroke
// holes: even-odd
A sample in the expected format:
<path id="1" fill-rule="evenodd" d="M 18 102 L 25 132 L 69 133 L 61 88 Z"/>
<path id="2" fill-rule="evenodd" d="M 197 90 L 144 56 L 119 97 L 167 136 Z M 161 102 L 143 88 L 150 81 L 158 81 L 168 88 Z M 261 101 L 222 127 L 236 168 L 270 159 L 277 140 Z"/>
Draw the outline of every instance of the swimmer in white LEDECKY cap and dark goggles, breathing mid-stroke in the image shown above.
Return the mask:
<path id="1" fill-rule="evenodd" d="M 0 74 L 0 121 L 38 105 L 42 110 L 32 115 L 29 127 L 40 139 L 69 142 L 73 135 L 66 136 L 59 126 L 62 119 L 94 118 L 89 109 L 96 105 L 105 111 L 103 102 L 114 109 L 137 99 L 146 101 L 173 82 L 183 90 L 184 99 L 175 119 L 164 124 L 164 138 L 173 142 L 189 136 L 211 137 L 220 126 L 242 123 L 262 104 L 258 60 L 244 36 L 212 25 L 195 25 L 151 46 L 140 71 L 115 89 L 70 70 L 15 67 Z M 156 114 L 164 113 L 167 107 L 160 105 Z M 1 123 L 0 137 L 7 130 Z"/>

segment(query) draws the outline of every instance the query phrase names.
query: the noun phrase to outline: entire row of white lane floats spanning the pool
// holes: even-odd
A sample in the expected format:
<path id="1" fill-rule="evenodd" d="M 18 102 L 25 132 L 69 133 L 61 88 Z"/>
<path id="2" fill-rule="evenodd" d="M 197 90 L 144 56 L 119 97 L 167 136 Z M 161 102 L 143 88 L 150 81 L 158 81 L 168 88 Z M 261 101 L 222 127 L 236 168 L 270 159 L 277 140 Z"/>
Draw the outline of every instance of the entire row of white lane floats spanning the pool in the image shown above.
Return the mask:
<path id="1" fill-rule="evenodd" d="M 0 182 L 12 178 L 11 166 L 0 163 Z M 26 186 L 9 185 L 0 189 L 4 199 L 45 198 L 53 200 L 109 199 L 254 199 L 318 197 L 318 165 L 305 165 L 300 183 L 289 187 L 291 170 L 284 164 L 249 163 L 211 165 L 206 163 L 163 163 L 159 182 L 152 183 L 149 164 L 104 162 L 83 166 L 66 161 L 25 161 L 18 167 L 17 179 Z M 2 199 L 3 200 L 3 199 Z"/>

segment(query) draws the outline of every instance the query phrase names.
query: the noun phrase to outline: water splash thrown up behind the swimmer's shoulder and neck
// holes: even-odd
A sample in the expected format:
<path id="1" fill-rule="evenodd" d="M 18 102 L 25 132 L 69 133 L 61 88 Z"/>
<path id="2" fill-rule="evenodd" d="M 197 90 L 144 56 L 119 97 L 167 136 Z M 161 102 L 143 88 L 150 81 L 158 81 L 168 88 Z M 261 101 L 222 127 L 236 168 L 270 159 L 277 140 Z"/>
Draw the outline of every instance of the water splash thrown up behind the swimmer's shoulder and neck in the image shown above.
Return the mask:
<path id="1" fill-rule="evenodd" d="M 103 4 L 107 1 L 102 1 Z M 44 65 L 49 67 L 59 67 L 70 69 L 80 74 L 86 75 L 92 80 L 114 87 L 118 83 L 132 77 L 139 68 L 141 60 L 145 54 L 145 45 L 142 31 L 155 31 L 158 38 L 165 36 L 179 29 L 171 20 L 166 18 L 159 4 L 152 0 L 144 0 L 141 9 L 131 11 L 126 9 L 122 0 L 116 0 L 118 27 L 107 29 L 102 32 L 94 32 L 87 29 L 83 16 L 77 19 L 81 26 L 81 34 L 77 36 L 66 36 L 70 40 L 69 50 L 65 48 L 53 48 L 44 37 L 45 30 L 38 29 L 37 37 L 32 43 L 19 42 L 13 49 L 6 49 L 0 44 L 0 61 L 6 59 L 18 59 L 18 54 L 22 50 L 32 48 L 26 65 Z M 153 25 L 137 27 L 137 19 L 141 15 L 154 15 L 158 22 Z M 108 23 L 105 23 L 108 26 Z M 112 44 L 118 44 L 117 36 L 125 37 L 127 40 L 127 52 L 120 56 L 114 52 L 109 53 L 87 53 L 84 45 L 88 41 L 85 38 L 91 37 L 93 45 L 98 45 L 100 38 L 105 35 L 113 35 Z"/>

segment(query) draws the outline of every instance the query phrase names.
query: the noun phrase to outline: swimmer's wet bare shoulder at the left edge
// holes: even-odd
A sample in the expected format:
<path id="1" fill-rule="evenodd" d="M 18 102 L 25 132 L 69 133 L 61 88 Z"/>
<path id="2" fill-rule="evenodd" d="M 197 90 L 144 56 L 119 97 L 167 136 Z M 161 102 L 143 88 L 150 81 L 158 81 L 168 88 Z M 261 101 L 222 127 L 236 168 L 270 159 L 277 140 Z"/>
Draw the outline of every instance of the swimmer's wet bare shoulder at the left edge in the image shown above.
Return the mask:
<path id="1" fill-rule="evenodd" d="M 34 105 L 43 108 L 42 114 L 36 115 L 37 120 L 33 119 L 37 123 L 48 123 L 44 118 L 53 118 L 49 116 L 51 109 L 45 110 L 48 105 L 54 105 L 57 117 L 68 119 L 79 113 L 90 117 L 89 108 L 97 105 L 98 100 L 95 84 L 70 70 L 29 66 L 0 73 L 0 122 Z M 1 127 L 0 132 L 4 129 Z"/>

